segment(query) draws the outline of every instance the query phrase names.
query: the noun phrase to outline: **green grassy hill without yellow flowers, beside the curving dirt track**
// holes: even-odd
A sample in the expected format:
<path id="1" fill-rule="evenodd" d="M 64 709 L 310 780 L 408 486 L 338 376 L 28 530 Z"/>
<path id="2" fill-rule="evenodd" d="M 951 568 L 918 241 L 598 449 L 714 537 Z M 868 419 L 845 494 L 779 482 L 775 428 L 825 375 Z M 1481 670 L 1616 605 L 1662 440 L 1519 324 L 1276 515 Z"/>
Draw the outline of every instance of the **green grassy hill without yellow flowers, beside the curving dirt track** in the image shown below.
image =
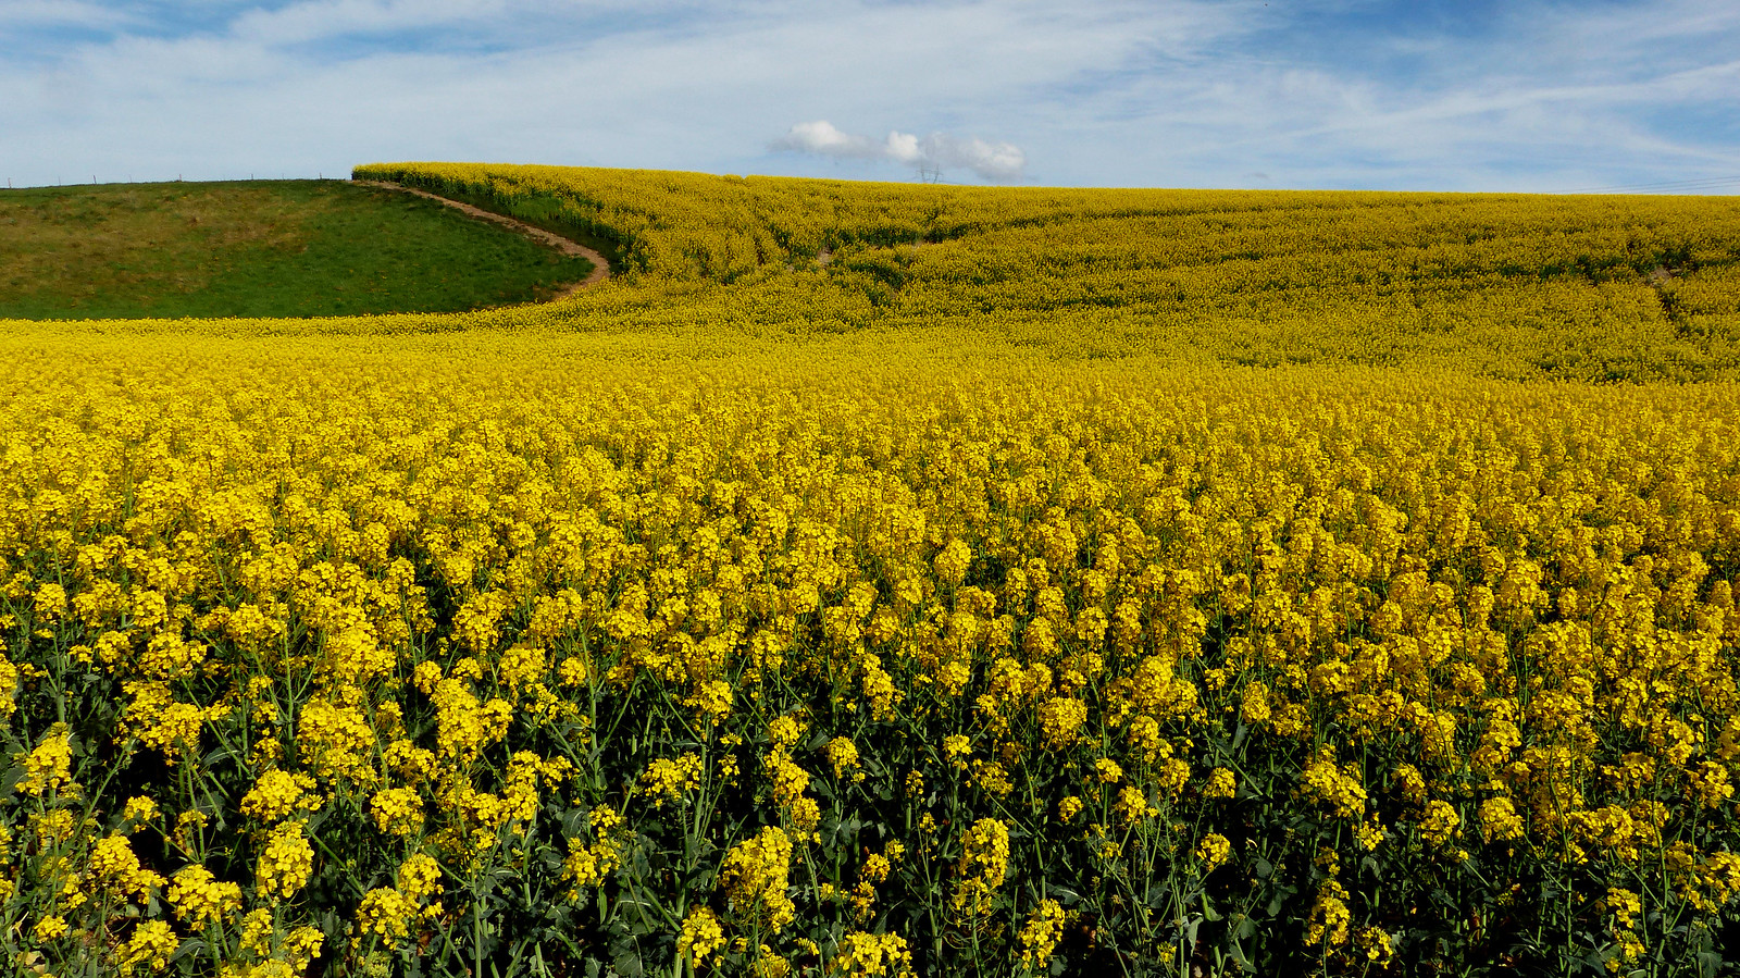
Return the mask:
<path id="1" fill-rule="evenodd" d="M 527 303 L 592 265 L 339 181 L 0 191 L 0 318 L 320 317 Z"/>

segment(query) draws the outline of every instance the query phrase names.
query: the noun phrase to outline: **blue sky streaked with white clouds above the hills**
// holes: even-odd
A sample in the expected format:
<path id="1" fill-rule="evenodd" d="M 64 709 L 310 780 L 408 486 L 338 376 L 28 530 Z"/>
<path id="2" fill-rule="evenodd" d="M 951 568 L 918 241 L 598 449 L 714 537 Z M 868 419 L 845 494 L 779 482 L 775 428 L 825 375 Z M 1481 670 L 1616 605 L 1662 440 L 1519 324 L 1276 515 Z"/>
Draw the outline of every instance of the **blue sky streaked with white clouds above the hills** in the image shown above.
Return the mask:
<path id="1" fill-rule="evenodd" d="M 0 0 L 0 179 L 1740 193 L 1735 0 Z"/>

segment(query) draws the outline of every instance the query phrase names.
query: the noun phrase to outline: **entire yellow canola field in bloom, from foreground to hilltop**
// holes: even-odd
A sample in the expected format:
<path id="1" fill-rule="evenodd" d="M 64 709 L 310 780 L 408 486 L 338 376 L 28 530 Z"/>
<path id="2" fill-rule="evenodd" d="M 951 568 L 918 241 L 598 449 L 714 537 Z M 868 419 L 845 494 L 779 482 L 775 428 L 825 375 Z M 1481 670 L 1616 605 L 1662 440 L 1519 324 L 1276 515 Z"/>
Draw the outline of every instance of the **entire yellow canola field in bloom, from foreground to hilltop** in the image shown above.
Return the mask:
<path id="1" fill-rule="evenodd" d="M 357 176 L 619 275 L 0 324 L 16 971 L 1740 966 L 1740 202 Z"/>

